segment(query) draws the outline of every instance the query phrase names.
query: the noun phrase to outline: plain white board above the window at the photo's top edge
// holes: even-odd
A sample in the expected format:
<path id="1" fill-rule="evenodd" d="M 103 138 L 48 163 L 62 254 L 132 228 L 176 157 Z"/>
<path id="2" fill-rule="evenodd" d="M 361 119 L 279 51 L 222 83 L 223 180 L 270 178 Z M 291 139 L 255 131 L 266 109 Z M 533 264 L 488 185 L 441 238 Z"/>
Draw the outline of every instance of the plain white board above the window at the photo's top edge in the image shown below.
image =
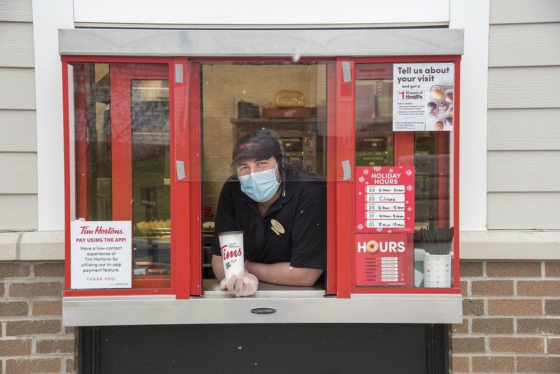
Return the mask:
<path id="1" fill-rule="evenodd" d="M 449 0 L 73 0 L 73 17 L 78 25 L 101 27 L 444 25 L 449 22 Z"/>

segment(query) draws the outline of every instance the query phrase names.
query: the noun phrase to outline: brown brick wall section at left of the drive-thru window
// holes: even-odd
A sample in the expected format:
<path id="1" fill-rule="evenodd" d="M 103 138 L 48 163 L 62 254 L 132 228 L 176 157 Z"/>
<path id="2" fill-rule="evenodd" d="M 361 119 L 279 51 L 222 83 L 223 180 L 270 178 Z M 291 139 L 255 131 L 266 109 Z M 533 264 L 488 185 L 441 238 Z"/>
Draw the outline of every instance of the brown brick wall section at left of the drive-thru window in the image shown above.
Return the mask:
<path id="1" fill-rule="evenodd" d="M 62 326 L 64 263 L 0 262 L 1 373 L 74 373 L 74 328 Z"/>

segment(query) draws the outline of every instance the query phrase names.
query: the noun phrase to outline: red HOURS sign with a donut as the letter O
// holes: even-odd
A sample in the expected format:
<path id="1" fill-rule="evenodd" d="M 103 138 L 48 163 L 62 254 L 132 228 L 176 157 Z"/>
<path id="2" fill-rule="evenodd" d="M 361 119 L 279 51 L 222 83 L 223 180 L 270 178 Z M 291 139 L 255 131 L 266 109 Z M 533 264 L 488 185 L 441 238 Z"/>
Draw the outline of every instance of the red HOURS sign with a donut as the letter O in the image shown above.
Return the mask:
<path id="1" fill-rule="evenodd" d="M 356 286 L 411 286 L 407 234 L 356 234 Z"/>

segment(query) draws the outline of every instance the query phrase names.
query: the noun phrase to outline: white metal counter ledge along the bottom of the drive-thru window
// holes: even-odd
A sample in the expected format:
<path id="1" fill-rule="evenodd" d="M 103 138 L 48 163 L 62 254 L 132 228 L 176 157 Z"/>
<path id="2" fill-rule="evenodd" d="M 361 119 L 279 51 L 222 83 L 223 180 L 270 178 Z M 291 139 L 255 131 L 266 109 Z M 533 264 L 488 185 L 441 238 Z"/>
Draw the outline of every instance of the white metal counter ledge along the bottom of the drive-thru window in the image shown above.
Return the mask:
<path id="1" fill-rule="evenodd" d="M 324 289 L 259 284 L 254 296 L 237 298 L 204 281 L 204 295 L 84 296 L 62 299 L 64 326 L 153 324 L 411 323 L 462 321 L 460 294 L 360 294 L 325 297 Z M 276 312 L 256 314 L 254 308 Z"/>

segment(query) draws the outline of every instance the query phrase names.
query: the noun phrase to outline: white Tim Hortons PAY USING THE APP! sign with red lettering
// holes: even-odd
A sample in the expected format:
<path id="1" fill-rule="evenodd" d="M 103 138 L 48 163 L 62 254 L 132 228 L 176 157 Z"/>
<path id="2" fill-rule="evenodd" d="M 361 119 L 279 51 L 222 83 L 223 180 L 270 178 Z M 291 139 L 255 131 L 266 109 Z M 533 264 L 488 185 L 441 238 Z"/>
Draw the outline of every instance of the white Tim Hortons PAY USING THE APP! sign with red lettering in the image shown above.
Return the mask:
<path id="1" fill-rule="evenodd" d="M 71 288 L 132 287 L 131 221 L 71 221 Z"/>

